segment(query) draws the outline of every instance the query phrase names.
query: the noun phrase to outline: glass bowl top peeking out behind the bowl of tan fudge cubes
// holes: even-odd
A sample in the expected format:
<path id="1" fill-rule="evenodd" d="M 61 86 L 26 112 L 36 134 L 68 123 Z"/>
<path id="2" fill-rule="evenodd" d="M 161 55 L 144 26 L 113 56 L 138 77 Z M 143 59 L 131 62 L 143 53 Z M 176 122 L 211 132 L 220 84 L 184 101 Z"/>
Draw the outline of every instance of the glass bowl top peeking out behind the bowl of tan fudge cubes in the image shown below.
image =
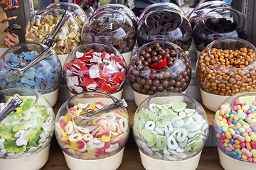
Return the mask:
<path id="1" fill-rule="evenodd" d="M 72 13 L 72 16 L 78 22 L 80 29 L 82 29 L 82 26 L 87 20 L 85 11 L 83 11 L 83 9 L 80 6 L 74 3 L 67 3 L 67 2 L 52 3 L 48 5 L 46 8 L 61 8 L 61 9 L 70 11 L 70 13 Z"/>

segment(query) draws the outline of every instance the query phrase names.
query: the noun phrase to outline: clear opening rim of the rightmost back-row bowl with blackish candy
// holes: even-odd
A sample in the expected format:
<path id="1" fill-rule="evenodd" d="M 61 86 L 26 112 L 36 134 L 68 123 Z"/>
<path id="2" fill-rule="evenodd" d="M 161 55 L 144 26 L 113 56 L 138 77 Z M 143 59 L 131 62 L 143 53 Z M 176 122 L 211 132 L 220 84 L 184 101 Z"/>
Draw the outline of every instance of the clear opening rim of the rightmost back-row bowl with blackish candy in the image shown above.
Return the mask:
<path id="1" fill-rule="evenodd" d="M 235 8 L 230 8 L 230 7 L 218 7 L 218 8 L 213 8 L 213 9 L 211 9 L 210 11 L 207 11 L 206 13 L 203 13 L 203 16 L 202 16 L 202 18 L 201 18 L 201 21 L 203 22 L 203 24 L 206 26 L 206 23 L 205 23 L 205 21 L 206 21 L 206 16 L 207 16 L 209 13 L 211 13 L 211 12 L 213 12 L 213 11 L 216 11 L 216 10 L 220 10 L 220 9 L 232 11 L 232 13 L 235 13 L 236 16 L 241 16 L 241 18 L 244 18 L 243 15 L 242 15 L 242 13 L 240 13 L 240 11 L 236 10 Z M 199 20 L 200 20 L 200 19 L 199 19 Z M 199 20 L 198 20 L 198 21 L 199 21 Z M 238 28 L 240 28 L 240 27 L 242 27 L 242 26 L 243 26 L 243 20 L 242 20 L 242 23 L 238 23 L 238 26 L 235 28 L 235 30 L 238 29 Z M 211 30 L 210 28 L 208 28 L 208 26 L 206 26 L 206 29 L 210 30 L 210 31 L 213 32 L 213 33 L 218 33 L 218 32 L 216 32 L 216 31 Z M 226 32 L 226 33 L 232 33 L 232 32 L 235 31 L 235 30 L 232 30 L 232 31 Z M 222 33 L 218 33 L 218 34 L 222 34 Z"/>

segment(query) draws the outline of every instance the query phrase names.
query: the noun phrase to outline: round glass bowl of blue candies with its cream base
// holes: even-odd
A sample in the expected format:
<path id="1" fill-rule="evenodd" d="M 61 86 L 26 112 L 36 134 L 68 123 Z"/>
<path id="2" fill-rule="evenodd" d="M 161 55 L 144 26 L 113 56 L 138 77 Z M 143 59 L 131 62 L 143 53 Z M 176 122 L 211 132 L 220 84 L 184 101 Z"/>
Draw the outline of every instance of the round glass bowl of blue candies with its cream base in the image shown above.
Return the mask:
<path id="1" fill-rule="evenodd" d="M 40 53 L 46 59 L 31 65 Z M 40 58 L 39 58 L 40 59 Z M 25 69 L 23 74 L 21 69 Z M 54 106 L 58 98 L 58 88 L 62 77 L 60 60 L 51 47 L 36 42 L 22 42 L 4 52 L 0 58 L 0 89 L 11 87 L 27 87 L 42 94 L 50 106 Z"/>

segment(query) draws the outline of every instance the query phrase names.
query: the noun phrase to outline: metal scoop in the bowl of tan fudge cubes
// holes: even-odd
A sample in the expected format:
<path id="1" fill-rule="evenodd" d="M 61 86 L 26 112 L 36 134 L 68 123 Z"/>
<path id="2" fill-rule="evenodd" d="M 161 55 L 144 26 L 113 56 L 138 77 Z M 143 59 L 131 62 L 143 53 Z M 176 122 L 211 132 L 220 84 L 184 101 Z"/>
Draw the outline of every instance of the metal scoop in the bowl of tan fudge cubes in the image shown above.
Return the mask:
<path id="1" fill-rule="evenodd" d="M 42 43 L 48 47 L 52 47 L 55 43 L 55 36 L 57 35 L 58 31 L 65 25 L 69 18 L 70 13 L 65 10 L 65 13 L 63 13 L 61 16 L 60 21 L 58 21 L 57 26 L 55 26 L 53 33 L 51 35 L 46 35 L 46 37 L 43 38 Z"/>

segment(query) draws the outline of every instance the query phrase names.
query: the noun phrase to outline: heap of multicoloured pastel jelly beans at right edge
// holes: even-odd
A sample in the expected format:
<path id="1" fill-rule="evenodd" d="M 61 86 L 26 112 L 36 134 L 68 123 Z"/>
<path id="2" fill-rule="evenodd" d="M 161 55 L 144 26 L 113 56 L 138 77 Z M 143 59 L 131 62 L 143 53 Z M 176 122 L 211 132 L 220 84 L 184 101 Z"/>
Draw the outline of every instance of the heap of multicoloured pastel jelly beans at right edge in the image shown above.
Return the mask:
<path id="1" fill-rule="evenodd" d="M 242 96 L 233 104 L 220 106 L 214 118 L 218 148 L 235 159 L 256 162 L 256 135 L 248 123 L 256 123 L 255 96 Z"/>

